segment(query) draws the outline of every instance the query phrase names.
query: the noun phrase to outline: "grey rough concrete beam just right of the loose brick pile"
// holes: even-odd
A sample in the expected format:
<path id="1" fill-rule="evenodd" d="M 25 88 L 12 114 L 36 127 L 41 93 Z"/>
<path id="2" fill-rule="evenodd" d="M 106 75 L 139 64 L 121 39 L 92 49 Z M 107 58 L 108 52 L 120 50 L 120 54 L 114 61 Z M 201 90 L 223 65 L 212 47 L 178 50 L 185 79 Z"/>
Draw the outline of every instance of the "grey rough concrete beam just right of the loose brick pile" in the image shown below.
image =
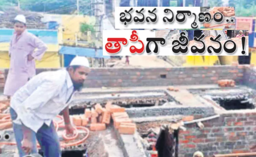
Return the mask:
<path id="1" fill-rule="evenodd" d="M 209 117 L 215 115 L 213 107 L 189 107 L 189 106 L 156 106 L 145 108 L 126 109 L 130 118 L 135 117 L 154 117 L 166 115 L 203 115 Z"/>

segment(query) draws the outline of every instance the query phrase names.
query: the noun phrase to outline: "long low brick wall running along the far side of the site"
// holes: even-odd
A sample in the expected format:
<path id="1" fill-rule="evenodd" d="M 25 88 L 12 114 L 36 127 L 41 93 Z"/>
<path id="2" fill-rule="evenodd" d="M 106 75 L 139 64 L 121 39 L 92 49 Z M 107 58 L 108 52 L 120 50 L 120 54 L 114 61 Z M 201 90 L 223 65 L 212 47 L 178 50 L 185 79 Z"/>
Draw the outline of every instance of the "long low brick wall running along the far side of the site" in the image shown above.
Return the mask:
<path id="1" fill-rule="evenodd" d="M 37 73 L 56 69 L 37 69 Z M 219 79 L 243 82 L 243 66 L 175 68 L 96 68 L 85 81 L 88 88 L 213 84 Z M 6 75 L 8 70 L 5 71 Z"/>

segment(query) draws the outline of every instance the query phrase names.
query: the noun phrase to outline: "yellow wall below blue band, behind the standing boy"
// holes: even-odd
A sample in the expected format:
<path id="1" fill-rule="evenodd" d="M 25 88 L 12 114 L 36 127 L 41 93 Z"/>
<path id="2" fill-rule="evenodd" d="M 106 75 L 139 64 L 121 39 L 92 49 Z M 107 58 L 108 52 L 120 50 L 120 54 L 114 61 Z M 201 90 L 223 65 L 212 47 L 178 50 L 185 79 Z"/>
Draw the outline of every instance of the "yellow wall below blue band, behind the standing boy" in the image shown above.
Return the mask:
<path id="1" fill-rule="evenodd" d="M 48 50 L 43 55 L 41 61 L 36 61 L 36 68 L 60 68 L 61 55 L 59 55 L 59 46 L 54 44 L 47 45 Z M 9 68 L 9 43 L 0 43 L 0 68 Z"/>

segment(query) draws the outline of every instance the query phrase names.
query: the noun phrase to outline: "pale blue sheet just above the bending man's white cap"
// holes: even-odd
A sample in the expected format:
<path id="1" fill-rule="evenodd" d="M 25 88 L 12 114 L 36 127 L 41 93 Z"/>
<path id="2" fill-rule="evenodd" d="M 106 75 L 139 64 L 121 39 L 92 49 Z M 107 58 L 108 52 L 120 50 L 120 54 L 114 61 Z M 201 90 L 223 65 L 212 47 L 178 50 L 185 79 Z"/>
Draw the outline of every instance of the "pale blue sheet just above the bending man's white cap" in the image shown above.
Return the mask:
<path id="1" fill-rule="evenodd" d="M 110 58 L 110 56 L 103 56 L 103 49 L 97 49 L 97 52 L 95 53 L 95 49 L 85 47 L 62 46 L 59 50 L 59 53 L 66 55 L 85 56 L 91 58 Z"/>

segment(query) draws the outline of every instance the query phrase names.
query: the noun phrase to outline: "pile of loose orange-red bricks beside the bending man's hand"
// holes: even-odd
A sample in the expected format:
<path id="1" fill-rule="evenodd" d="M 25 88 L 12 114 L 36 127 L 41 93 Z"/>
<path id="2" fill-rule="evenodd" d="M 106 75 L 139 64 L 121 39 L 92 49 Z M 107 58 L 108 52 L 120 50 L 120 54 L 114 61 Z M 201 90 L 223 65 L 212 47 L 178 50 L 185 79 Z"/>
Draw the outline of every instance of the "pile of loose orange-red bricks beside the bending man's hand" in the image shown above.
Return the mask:
<path id="1" fill-rule="evenodd" d="M 125 108 L 117 105 L 112 105 L 111 102 L 107 102 L 105 107 L 100 104 L 96 104 L 94 108 L 85 109 L 85 114 L 74 115 L 72 117 L 73 124 L 76 126 L 87 126 L 90 123 L 91 131 L 106 130 L 113 119 L 115 128 L 119 133 L 134 134 L 136 125 L 132 123 L 128 114 L 125 112 Z"/>

